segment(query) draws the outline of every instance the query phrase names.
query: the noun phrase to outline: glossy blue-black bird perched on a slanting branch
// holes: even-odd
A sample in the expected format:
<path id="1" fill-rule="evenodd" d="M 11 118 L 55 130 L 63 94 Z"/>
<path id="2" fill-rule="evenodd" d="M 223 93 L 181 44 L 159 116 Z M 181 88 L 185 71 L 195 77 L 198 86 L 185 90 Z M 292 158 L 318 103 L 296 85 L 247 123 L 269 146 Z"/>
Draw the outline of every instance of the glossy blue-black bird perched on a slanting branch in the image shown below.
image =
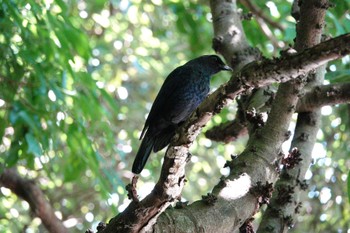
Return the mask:
<path id="1" fill-rule="evenodd" d="M 232 71 L 217 55 L 203 55 L 173 70 L 165 79 L 142 129 L 141 145 L 132 166 L 139 174 L 153 152 L 166 147 L 176 129 L 206 98 L 210 78 L 222 71 Z"/>

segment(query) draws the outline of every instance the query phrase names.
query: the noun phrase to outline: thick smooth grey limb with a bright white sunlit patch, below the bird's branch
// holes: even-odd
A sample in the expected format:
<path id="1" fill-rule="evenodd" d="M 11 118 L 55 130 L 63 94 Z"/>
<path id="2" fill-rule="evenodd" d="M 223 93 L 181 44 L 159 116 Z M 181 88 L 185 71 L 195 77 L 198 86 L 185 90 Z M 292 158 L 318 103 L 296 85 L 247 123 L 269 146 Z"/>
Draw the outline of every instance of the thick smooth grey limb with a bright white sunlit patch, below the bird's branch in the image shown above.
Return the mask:
<path id="1" fill-rule="evenodd" d="M 266 126 L 250 138 L 246 149 L 237 159 L 228 163 L 234 169 L 215 186 L 212 195 L 216 201 L 210 207 L 203 201 L 197 201 L 186 208 L 186 216 L 190 216 L 188 222 L 193 221 L 189 229 L 195 229 L 194 232 L 234 232 L 254 215 L 260 197 L 251 190 L 259 186 L 259 182 L 268 186 L 277 179 L 274 160 L 285 140 L 293 115 L 289 109 L 290 103 L 296 99 L 297 93 L 289 86 L 279 92 Z M 164 218 L 160 221 L 167 220 Z M 190 225 L 188 222 L 187 225 Z M 218 222 L 220 224 L 215 224 Z M 172 224 L 176 229 L 181 227 L 177 221 L 172 221 Z"/>

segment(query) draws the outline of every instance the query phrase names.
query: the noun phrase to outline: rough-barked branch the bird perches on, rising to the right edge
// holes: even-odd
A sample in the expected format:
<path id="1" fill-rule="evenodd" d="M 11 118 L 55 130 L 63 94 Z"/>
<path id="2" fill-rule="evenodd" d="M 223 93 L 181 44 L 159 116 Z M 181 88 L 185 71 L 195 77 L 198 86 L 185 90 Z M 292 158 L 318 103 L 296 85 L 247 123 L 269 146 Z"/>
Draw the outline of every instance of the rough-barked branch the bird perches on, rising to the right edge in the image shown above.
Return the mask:
<path id="1" fill-rule="evenodd" d="M 178 129 L 166 152 L 160 179 L 151 194 L 138 203 L 132 202 L 123 213 L 111 220 L 103 232 L 137 232 L 142 226 L 153 225 L 158 215 L 181 194 L 188 149 L 192 142 L 211 117 L 237 95 L 253 87 L 286 82 L 306 75 L 316 67 L 349 52 L 350 34 L 346 34 L 299 54 L 251 63 L 233 75 L 229 82 L 212 93 Z"/>

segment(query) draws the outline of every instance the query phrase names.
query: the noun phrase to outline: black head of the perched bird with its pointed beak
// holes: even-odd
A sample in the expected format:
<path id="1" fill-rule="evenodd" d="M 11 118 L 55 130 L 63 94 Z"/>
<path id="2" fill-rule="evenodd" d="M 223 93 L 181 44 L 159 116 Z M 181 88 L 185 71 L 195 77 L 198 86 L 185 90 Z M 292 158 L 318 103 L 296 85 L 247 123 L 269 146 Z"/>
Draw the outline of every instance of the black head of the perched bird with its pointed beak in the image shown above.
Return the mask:
<path id="1" fill-rule="evenodd" d="M 206 70 L 210 75 L 214 75 L 222 70 L 232 71 L 232 68 L 226 65 L 217 55 L 204 55 L 188 62 L 191 65 L 199 65 L 201 69 Z"/>

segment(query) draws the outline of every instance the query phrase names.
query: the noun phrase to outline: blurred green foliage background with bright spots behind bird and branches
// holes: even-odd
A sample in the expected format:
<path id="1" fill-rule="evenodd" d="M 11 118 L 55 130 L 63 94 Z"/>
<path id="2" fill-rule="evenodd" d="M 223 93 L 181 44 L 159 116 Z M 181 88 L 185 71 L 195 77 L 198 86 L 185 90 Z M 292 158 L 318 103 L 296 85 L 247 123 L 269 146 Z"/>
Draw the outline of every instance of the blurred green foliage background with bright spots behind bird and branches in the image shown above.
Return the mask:
<path id="1" fill-rule="evenodd" d="M 350 31 L 350 1 L 333 2 L 325 27 L 332 37 Z M 243 14 L 255 15 L 243 22 L 245 33 L 266 57 L 293 44 L 291 4 L 238 3 Z M 35 180 L 70 232 L 123 211 L 145 117 L 169 72 L 214 53 L 211 20 L 202 0 L 1 0 L 0 173 L 14 167 Z M 325 82 L 349 82 L 349 67 L 349 56 L 328 64 Z M 229 78 L 216 75 L 212 90 Z M 232 103 L 204 131 L 232 120 L 235 111 Z M 322 114 L 309 190 L 291 232 L 350 232 L 350 105 L 324 107 Z M 183 199 L 210 192 L 246 140 L 224 144 L 201 134 L 191 148 Z M 152 154 L 141 173 L 140 197 L 157 181 L 163 155 Z M 26 201 L 5 187 L 0 196 L 0 232 L 46 232 Z"/>

